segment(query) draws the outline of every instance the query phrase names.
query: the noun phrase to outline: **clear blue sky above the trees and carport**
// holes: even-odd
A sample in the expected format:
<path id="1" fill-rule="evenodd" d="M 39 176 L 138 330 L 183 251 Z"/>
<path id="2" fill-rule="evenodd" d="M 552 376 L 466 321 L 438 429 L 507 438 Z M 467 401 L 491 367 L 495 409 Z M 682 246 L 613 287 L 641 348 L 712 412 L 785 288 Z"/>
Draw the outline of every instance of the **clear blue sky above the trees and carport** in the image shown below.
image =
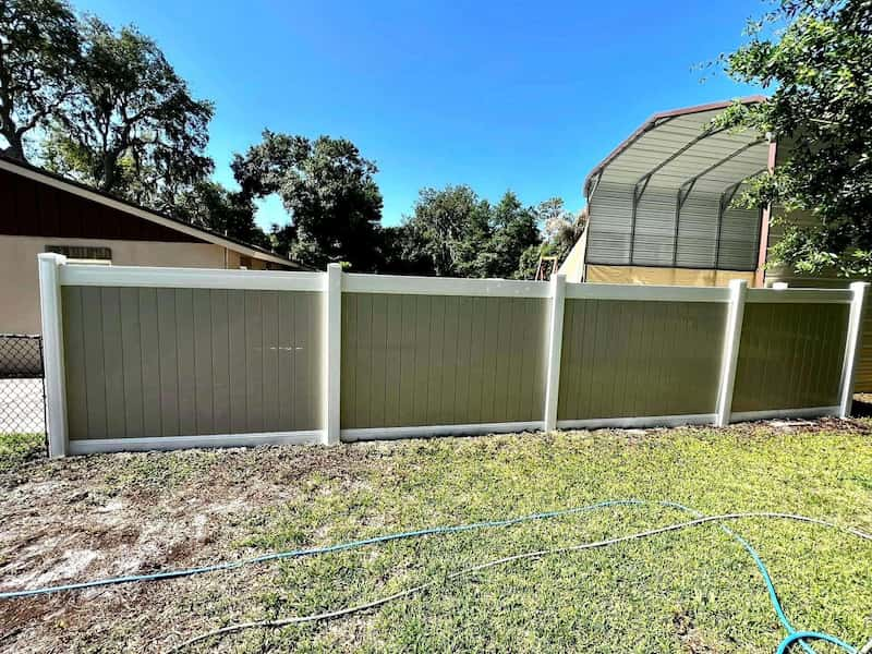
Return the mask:
<path id="1" fill-rule="evenodd" d="M 379 167 L 384 222 L 423 186 L 583 206 L 585 174 L 654 111 L 756 89 L 693 64 L 734 49 L 760 0 L 365 2 L 78 0 L 155 38 L 216 104 L 209 154 L 261 131 L 353 141 Z M 284 221 L 278 201 L 258 221 Z"/>

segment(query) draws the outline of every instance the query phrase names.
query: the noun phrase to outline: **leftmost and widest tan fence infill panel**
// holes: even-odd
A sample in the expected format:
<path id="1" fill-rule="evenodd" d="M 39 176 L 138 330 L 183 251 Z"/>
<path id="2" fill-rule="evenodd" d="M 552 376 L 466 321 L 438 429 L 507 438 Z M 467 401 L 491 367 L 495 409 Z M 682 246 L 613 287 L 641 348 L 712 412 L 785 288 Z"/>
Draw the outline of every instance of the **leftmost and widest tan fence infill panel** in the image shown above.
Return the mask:
<path id="1" fill-rule="evenodd" d="M 71 439 L 320 427 L 320 293 L 62 293 Z"/>

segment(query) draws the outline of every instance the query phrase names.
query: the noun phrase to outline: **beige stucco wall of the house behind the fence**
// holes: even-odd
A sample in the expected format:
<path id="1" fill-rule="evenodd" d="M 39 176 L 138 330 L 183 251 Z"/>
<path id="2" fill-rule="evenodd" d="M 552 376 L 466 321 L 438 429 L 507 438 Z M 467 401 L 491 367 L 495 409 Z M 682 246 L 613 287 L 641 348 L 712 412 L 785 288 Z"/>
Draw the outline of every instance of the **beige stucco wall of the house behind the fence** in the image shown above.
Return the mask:
<path id="1" fill-rule="evenodd" d="M 160 243 L 45 237 L 0 237 L 0 332 L 39 334 L 39 274 L 36 255 L 46 245 L 109 247 L 118 266 L 239 267 L 239 255 L 211 243 Z"/>

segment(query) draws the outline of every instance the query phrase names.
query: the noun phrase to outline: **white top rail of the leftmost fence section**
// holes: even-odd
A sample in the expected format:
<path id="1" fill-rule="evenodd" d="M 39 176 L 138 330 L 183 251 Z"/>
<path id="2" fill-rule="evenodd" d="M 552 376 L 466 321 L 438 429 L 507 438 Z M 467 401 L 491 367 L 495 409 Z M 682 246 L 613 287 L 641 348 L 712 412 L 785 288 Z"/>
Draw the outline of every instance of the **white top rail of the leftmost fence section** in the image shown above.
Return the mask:
<path id="1" fill-rule="evenodd" d="M 62 286 L 322 291 L 324 272 L 148 268 L 141 266 L 62 266 Z"/>

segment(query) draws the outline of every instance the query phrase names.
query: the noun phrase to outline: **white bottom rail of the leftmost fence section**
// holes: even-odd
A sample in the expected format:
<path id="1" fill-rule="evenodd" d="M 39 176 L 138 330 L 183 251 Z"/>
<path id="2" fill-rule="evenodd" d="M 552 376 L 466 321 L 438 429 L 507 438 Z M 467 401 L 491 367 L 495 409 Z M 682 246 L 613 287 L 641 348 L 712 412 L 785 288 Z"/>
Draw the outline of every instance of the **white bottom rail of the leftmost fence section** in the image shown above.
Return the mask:
<path id="1" fill-rule="evenodd" d="M 320 429 L 305 432 L 265 432 L 257 434 L 210 434 L 205 436 L 155 436 L 145 438 L 95 438 L 70 440 L 69 453 L 145 452 L 215 447 L 254 447 L 257 445 L 317 445 Z"/>

